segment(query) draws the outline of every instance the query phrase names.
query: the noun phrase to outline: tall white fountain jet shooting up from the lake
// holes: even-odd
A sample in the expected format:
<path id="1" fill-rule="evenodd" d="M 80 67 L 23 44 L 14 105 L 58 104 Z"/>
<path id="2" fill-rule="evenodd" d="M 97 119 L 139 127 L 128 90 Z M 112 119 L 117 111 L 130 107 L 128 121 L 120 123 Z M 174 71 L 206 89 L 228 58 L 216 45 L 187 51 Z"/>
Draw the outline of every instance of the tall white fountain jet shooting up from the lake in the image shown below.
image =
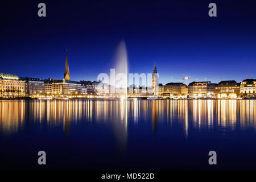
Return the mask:
<path id="1" fill-rule="evenodd" d="M 127 98 L 127 75 L 128 75 L 128 58 L 125 46 L 125 41 L 121 41 L 117 48 L 117 56 L 115 74 L 118 83 L 115 84 L 116 92 L 121 93 L 122 98 Z M 120 80 L 120 81 L 119 81 Z M 119 90 L 118 90 L 119 89 Z"/>

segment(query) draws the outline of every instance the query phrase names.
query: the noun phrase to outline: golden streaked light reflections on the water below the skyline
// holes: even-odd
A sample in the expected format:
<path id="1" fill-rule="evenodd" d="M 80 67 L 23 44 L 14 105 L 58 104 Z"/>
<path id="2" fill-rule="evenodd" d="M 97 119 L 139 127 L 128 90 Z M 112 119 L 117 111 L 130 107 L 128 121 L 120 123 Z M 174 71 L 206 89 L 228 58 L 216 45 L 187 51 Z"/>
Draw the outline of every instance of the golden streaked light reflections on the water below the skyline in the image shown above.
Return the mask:
<path id="1" fill-rule="evenodd" d="M 12 134 L 26 123 L 49 129 L 63 127 L 66 137 L 79 122 L 110 123 L 118 143 L 125 148 L 128 122 L 151 122 L 152 131 L 166 122 L 201 130 L 255 130 L 255 100 L 35 100 L 0 101 L 0 133 Z"/>

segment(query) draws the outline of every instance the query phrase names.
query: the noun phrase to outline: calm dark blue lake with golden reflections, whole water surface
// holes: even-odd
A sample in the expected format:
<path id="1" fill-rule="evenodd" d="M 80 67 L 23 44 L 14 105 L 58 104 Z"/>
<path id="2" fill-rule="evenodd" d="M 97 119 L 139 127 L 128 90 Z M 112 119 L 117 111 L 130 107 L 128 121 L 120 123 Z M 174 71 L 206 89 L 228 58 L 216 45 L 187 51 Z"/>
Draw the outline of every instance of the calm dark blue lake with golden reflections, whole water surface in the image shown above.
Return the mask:
<path id="1" fill-rule="evenodd" d="M 256 169 L 255 109 L 255 100 L 1 100 L 0 169 Z"/>

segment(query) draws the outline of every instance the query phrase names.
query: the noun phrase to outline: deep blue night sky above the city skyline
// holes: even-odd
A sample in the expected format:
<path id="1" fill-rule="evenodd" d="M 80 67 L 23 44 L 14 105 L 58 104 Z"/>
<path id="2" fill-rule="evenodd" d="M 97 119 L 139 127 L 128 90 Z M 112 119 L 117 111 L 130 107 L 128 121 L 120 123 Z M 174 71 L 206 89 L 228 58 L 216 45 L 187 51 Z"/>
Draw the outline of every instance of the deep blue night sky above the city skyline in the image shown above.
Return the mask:
<path id="1" fill-rule="evenodd" d="M 47 17 L 38 17 L 44 2 Z M 210 2 L 217 17 L 208 16 Z M 5 2 L 6 3 L 6 2 Z M 241 81 L 256 77 L 254 1 L 11 1 L 0 4 L 0 72 L 63 78 L 68 48 L 72 80 L 96 80 L 114 68 L 125 40 L 129 73 L 160 82 Z M 188 83 L 188 82 L 187 82 Z"/>

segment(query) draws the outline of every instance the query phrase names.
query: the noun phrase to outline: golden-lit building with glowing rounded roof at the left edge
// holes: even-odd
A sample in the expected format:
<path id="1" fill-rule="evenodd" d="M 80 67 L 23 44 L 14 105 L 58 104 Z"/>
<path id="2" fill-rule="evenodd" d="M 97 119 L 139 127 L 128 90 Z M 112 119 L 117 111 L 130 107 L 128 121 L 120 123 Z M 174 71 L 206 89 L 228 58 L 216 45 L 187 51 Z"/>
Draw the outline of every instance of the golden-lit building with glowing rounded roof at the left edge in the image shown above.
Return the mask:
<path id="1" fill-rule="evenodd" d="M 0 97 L 25 96 L 25 81 L 14 74 L 0 73 Z"/>

